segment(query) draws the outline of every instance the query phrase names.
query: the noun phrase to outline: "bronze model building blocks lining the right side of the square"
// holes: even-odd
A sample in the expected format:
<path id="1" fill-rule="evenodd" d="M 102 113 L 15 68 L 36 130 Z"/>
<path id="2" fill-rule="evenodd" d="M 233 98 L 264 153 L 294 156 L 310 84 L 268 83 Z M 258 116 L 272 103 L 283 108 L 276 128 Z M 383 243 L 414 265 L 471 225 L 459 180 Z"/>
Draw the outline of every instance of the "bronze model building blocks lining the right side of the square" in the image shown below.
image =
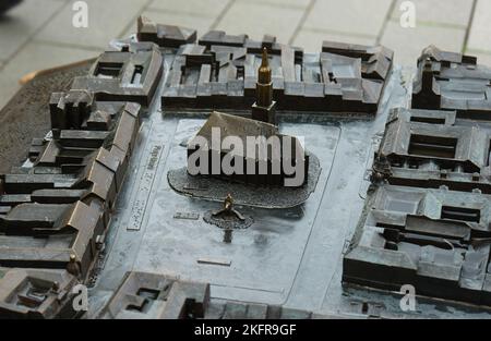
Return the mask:
<path id="1" fill-rule="evenodd" d="M 418 63 L 418 109 L 388 117 L 343 278 L 489 306 L 491 73 L 435 47 Z"/>

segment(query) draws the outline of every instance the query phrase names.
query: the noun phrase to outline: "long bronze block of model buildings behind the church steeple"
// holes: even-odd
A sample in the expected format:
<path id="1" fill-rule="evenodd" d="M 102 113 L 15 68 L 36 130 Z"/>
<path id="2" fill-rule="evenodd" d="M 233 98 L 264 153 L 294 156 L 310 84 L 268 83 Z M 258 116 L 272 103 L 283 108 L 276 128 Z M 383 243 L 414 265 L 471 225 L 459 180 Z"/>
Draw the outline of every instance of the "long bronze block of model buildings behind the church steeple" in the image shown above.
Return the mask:
<path id="1" fill-rule="evenodd" d="M 264 49 L 270 54 L 271 71 L 260 72 L 260 77 L 271 74 L 277 109 L 300 112 L 375 114 L 394 57 L 381 46 L 330 41 L 324 41 L 321 53 L 309 54 L 278 44 L 272 36 L 254 41 L 247 35 L 213 31 L 197 44 L 181 45 L 172 51 L 176 58 L 164 87 L 163 105 L 167 109 L 249 110 L 258 88 L 265 86 L 262 94 L 271 96 L 270 82 L 259 80 L 256 72 Z M 267 113 L 259 111 L 253 114 L 265 121 Z M 271 120 L 273 115 L 267 118 Z"/>

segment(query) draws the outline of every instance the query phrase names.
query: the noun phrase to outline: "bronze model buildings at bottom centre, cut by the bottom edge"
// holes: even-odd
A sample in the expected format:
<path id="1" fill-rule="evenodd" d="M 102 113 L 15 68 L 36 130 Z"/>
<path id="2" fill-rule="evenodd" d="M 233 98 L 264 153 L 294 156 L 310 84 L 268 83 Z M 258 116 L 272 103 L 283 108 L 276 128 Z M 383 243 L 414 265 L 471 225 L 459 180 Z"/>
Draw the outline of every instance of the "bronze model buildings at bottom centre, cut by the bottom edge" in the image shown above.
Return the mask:
<path id="1" fill-rule="evenodd" d="M 311 312 L 248 302 L 212 302 L 209 284 L 128 272 L 99 318 L 310 319 Z M 315 316 L 322 318 L 322 316 Z"/>

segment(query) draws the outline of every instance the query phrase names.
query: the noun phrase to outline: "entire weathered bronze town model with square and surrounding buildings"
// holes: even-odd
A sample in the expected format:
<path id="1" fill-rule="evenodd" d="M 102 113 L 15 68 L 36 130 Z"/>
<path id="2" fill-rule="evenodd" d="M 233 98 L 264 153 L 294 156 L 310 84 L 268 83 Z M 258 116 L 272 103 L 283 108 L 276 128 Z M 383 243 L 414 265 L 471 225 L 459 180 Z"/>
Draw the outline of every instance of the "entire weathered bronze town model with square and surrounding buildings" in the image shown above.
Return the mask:
<path id="1" fill-rule="evenodd" d="M 411 88 L 384 47 L 324 42 L 309 54 L 145 19 L 137 40 L 44 94 L 50 132 L 1 176 L 0 318 L 75 317 L 77 284 L 94 285 L 88 318 L 394 318 L 387 291 L 406 284 L 431 302 L 417 316 L 489 316 L 490 69 L 429 47 Z M 276 119 L 240 117 L 254 101 L 276 101 Z M 230 114 L 203 121 L 213 109 Z M 213 126 L 306 135 L 319 150 L 313 183 L 172 186 L 169 167 Z M 206 221 L 227 193 L 236 211 L 228 199 L 218 216 L 247 221 L 233 233 Z"/>

